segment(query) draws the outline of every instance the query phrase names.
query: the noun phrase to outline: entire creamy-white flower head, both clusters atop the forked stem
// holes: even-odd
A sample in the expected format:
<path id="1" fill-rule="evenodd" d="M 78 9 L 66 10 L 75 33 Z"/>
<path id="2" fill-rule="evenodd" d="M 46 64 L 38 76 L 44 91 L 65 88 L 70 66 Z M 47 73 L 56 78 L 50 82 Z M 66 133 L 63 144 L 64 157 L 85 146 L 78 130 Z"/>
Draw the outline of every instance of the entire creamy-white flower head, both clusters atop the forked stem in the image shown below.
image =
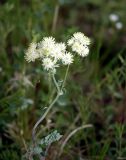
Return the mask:
<path id="1" fill-rule="evenodd" d="M 80 32 L 75 33 L 68 40 L 68 45 L 72 47 L 72 51 L 76 51 L 82 57 L 88 55 L 89 44 L 88 37 Z M 70 65 L 73 63 L 73 55 L 66 51 L 65 43 L 57 43 L 53 37 L 44 37 L 39 43 L 31 43 L 25 58 L 28 62 L 40 59 L 44 69 L 47 71 L 55 70 L 60 64 Z"/>

